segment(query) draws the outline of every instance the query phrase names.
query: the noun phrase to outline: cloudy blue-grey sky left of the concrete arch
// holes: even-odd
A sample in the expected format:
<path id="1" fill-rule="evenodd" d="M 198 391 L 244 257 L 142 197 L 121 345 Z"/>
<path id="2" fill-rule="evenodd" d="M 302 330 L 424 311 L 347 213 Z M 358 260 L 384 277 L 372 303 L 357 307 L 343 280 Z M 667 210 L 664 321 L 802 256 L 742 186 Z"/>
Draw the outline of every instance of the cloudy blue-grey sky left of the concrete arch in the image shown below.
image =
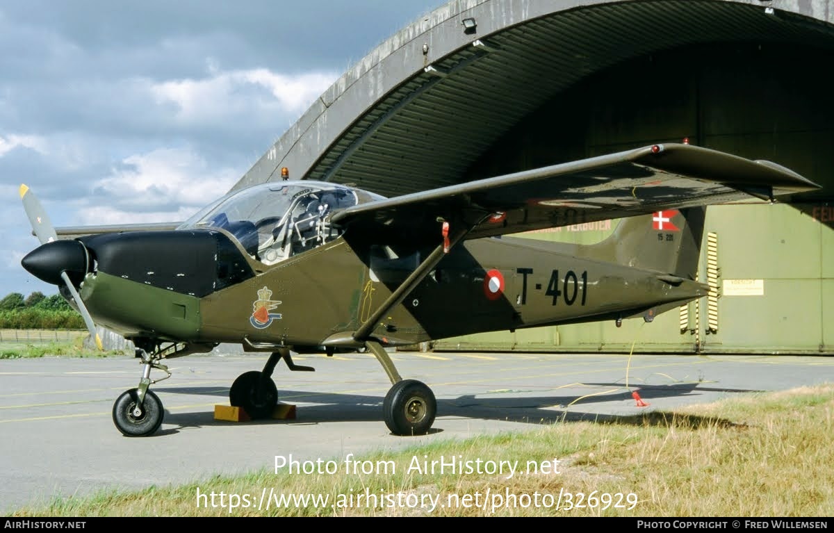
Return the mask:
<path id="1" fill-rule="evenodd" d="M 0 298 L 55 294 L 27 184 L 55 226 L 186 219 L 225 194 L 350 65 L 443 0 L 3 0 Z"/>

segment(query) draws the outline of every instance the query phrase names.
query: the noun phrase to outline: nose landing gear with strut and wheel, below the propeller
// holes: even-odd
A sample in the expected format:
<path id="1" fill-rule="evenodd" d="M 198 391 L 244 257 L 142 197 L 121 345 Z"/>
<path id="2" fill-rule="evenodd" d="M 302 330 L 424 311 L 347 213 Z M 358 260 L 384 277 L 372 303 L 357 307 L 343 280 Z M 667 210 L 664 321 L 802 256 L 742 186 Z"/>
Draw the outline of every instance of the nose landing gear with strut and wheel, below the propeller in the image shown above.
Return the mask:
<path id="1" fill-rule="evenodd" d="M 113 404 L 113 423 L 122 435 L 143 437 L 153 434 L 162 425 L 164 410 L 162 401 L 148 387 L 171 377 L 168 367 L 159 363 L 162 356 L 148 355 L 137 348 L 136 356 L 142 359 L 142 379 L 136 389 L 125 390 Z M 151 380 L 151 370 L 163 370 L 167 375 L 160 380 Z"/>

